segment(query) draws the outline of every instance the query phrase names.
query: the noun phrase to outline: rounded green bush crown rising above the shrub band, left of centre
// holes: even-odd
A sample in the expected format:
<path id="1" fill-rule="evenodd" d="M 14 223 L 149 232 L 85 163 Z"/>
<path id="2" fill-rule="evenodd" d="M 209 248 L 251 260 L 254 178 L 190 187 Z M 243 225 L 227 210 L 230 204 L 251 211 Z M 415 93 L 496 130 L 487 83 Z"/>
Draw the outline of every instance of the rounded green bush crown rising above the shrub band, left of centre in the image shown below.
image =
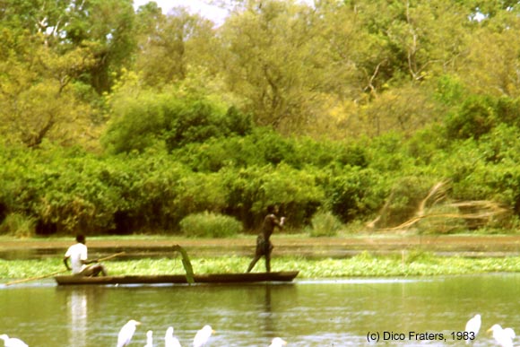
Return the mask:
<path id="1" fill-rule="evenodd" d="M 170 93 L 144 92 L 134 99 L 113 100 L 112 119 L 103 142 L 109 152 L 143 152 L 157 142 L 173 151 L 231 134 L 247 134 L 251 123 L 236 108 L 222 111 L 209 100 L 176 98 Z"/>

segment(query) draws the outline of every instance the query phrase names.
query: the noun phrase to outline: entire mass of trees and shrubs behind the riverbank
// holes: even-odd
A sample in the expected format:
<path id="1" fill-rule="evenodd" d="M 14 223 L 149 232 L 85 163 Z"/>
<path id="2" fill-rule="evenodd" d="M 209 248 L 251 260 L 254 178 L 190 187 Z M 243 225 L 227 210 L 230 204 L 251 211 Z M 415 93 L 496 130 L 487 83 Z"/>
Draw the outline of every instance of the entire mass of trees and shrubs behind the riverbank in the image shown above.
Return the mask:
<path id="1" fill-rule="evenodd" d="M 518 230 L 520 4 L 230 6 L 1 3 L 0 234 Z"/>

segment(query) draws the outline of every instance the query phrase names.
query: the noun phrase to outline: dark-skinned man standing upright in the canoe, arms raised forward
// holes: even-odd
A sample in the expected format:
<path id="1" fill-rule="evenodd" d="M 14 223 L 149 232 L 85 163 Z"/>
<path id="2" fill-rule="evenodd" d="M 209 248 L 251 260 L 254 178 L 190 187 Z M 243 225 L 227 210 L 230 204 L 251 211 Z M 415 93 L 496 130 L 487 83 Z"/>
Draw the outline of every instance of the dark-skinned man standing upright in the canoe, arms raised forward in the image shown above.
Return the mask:
<path id="1" fill-rule="evenodd" d="M 273 244 L 270 241 L 271 235 L 273 234 L 274 228 L 278 227 L 282 229 L 283 222 L 285 221 L 285 217 L 282 217 L 280 221 L 278 221 L 278 217 L 276 217 L 275 213 L 278 213 L 278 209 L 273 206 L 267 207 L 267 215 L 264 218 L 264 222 L 262 223 L 262 231 L 256 238 L 256 252 L 255 258 L 249 264 L 247 268 L 247 273 L 250 273 L 255 267 L 256 262 L 262 257 L 265 256 L 265 271 L 268 273 L 271 272 L 271 252 L 273 251 Z"/>

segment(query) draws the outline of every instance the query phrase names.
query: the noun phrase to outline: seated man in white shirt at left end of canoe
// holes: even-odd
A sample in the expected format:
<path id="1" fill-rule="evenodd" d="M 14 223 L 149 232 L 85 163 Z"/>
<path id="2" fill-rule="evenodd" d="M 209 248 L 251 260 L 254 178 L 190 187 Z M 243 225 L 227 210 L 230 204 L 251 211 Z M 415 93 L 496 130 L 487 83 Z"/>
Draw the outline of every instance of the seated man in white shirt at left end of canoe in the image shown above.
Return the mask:
<path id="1" fill-rule="evenodd" d="M 100 273 L 106 276 L 107 271 L 103 265 L 98 263 L 98 260 L 88 260 L 84 235 L 76 236 L 76 241 L 77 243 L 69 247 L 65 253 L 63 262 L 66 268 L 79 276 L 95 277 Z M 68 264 L 69 259 L 71 260 L 72 268 Z"/>

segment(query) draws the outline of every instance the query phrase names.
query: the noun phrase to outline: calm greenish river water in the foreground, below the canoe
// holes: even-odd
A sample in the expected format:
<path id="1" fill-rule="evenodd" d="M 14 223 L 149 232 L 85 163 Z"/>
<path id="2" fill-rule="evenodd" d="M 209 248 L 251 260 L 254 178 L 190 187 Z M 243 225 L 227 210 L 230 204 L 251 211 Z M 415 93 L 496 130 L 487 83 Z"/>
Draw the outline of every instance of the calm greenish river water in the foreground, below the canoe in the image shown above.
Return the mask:
<path id="1" fill-rule="evenodd" d="M 57 287 L 38 282 L 0 285 L 0 334 L 30 347 L 116 346 L 128 319 L 142 322 L 130 346 L 153 330 L 163 346 L 168 326 L 183 346 L 212 325 L 208 346 L 464 346 L 451 333 L 482 315 L 474 346 L 494 346 L 485 333 L 498 323 L 520 333 L 520 275 L 488 274 L 420 279 L 297 281 L 281 285 Z M 379 334 L 369 343 L 368 333 Z M 385 332 L 403 334 L 384 341 Z M 443 334 L 416 341 L 410 333 Z M 403 336 L 401 335 L 401 336 Z M 398 336 L 398 335 L 395 335 Z"/>

